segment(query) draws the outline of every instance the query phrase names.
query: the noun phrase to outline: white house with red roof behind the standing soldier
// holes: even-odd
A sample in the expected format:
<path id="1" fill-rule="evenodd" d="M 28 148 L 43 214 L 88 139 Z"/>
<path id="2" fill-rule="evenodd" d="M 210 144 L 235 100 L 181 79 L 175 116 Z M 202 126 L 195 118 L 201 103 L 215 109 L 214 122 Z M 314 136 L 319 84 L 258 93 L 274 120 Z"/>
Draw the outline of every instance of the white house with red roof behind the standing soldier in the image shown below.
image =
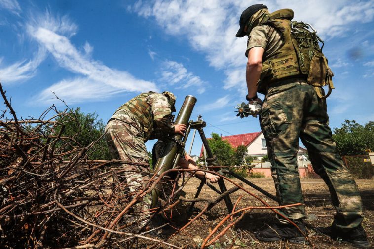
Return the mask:
<path id="1" fill-rule="evenodd" d="M 222 140 L 226 140 L 231 146 L 236 149 L 240 145 L 247 147 L 247 153 L 249 156 L 255 157 L 252 165 L 255 164 L 253 172 L 260 172 L 265 177 L 271 177 L 269 162 L 261 162 L 262 157 L 267 155 L 267 147 L 265 137 L 262 132 L 245 133 L 231 136 L 221 136 Z M 200 157 L 203 155 L 204 148 L 202 146 Z M 307 150 L 299 146 L 298 160 L 300 177 L 307 177 L 312 172 L 311 162 L 307 159 Z"/>

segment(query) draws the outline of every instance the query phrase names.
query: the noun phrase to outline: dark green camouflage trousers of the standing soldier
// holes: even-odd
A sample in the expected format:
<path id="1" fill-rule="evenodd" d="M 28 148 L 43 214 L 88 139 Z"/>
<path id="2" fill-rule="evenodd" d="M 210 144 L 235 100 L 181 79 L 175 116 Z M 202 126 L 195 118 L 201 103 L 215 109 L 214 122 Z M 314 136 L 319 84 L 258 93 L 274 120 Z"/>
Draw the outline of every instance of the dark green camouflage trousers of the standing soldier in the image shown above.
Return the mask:
<path id="1" fill-rule="evenodd" d="M 334 225 L 345 231 L 357 227 L 363 220 L 362 201 L 332 140 L 326 99 L 320 99 L 306 82 L 295 81 L 270 85 L 260 113 L 280 205 L 303 203 L 297 166 L 300 138 L 314 171 L 329 187 L 337 210 Z M 305 217 L 304 206 L 281 209 L 280 213 L 294 221 Z"/>

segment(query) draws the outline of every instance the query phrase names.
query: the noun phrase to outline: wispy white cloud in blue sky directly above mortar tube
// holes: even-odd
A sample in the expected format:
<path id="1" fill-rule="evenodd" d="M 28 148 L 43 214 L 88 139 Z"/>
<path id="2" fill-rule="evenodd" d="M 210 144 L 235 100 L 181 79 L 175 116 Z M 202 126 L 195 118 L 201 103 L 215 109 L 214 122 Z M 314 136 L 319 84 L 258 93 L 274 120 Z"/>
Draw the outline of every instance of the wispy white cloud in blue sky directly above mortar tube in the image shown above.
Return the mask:
<path id="1" fill-rule="evenodd" d="M 177 85 L 178 88 L 187 89 L 194 87 L 197 93 L 205 92 L 205 85 L 208 83 L 201 80 L 199 76 L 188 72 L 182 63 L 166 60 L 161 70 L 161 80 L 169 85 Z"/>

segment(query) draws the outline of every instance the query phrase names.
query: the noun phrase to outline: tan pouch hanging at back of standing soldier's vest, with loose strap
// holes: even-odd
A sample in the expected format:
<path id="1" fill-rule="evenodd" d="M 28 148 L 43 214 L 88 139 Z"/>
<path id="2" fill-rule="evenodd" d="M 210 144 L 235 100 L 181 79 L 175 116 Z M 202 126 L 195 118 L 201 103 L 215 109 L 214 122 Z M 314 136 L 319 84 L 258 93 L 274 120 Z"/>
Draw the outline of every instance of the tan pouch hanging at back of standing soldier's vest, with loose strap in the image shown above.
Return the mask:
<path id="1" fill-rule="evenodd" d="M 312 61 L 310 62 L 309 74 L 307 82 L 309 85 L 314 86 L 318 97 L 327 98 L 331 90 L 334 89 L 332 77 L 334 73 L 331 71 L 327 65 L 327 59 L 322 55 L 314 55 Z M 329 86 L 328 93 L 323 96 L 321 87 Z"/>

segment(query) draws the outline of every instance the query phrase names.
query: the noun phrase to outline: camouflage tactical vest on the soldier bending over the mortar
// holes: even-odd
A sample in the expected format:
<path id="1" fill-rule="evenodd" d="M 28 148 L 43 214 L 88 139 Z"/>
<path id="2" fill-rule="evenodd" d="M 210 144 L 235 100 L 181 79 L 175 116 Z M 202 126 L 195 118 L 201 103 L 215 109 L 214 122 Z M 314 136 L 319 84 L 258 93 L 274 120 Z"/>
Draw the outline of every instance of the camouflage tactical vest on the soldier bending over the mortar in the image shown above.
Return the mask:
<path id="1" fill-rule="evenodd" d="M 131 114 L 143 125 L 143 138 L 148 140 L 154 131 L 153 112 L 152 107 L 147 102 L 147 97 L 154 92 L 142 93 L 132 98 L 116 111 L 129 110 Z M 114 114 L 115 114 L 114 113 Z"/>

